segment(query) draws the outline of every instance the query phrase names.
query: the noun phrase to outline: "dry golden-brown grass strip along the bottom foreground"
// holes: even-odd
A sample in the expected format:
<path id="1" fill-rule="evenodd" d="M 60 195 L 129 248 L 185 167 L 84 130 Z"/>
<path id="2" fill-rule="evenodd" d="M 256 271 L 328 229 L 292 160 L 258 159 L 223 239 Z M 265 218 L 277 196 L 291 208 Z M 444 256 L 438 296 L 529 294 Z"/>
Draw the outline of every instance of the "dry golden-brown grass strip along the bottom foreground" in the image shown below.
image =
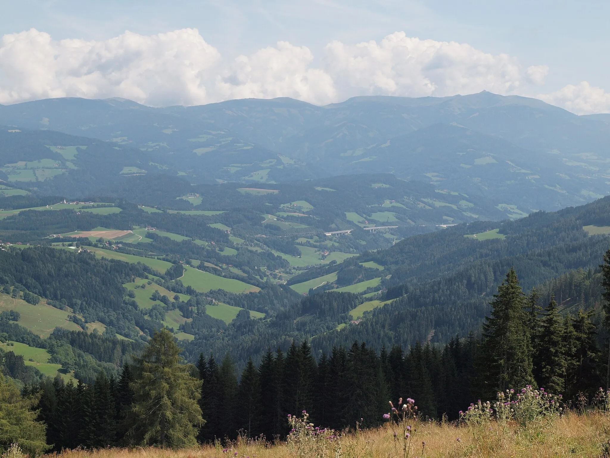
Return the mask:
<path id="1" fill-rule="evenodd" d="M 492 421 L 486 426 L 468 427 L 445 423 L 419 423 L 412 435 L 409 458 L 414 457 L 610 457 L 610 415 L 568 413 L 563 418 L 542 421 L 525 429 L 514 424 L 501 427 Z M 459 440 L 458 440 L 459 439 Z M 425 448 L 422 449 L 422 442 Z M 339 451 L 339 454 L 336 452 Z M 326 447 L 318 453 L 293 448 L 287 443 L 271 445 L 256 440 L 238 440 L 226 451 L 218 445 L 200 448 L 135 448 L 98 451 L 65 451 L 61 458 L 389 458 L 403 457 L 401 446 L 395 449 L 392 429 L 346 434 L 339 438 L 339 448 Z"/>

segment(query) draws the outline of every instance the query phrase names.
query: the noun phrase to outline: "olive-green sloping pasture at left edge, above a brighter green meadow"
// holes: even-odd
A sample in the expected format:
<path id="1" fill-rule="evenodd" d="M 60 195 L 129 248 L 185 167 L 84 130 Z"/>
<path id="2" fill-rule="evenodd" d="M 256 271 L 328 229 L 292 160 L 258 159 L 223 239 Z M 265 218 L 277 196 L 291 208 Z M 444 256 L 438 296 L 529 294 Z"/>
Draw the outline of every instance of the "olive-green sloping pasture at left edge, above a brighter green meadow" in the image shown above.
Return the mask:
<path id="1" fill-rule="evenodd" d="M 45 302 L 32 305 L 22 299 L 13 299 L 8 294 L 0 294 L 0 311 L 5 310 L 19 312 L 21 318 L 17 323 L 42 338 L 51 335 L 56 327 L 70 331 L 82 330 L 76 323 L 68 320 L 68 315 L 71 314 L 69 310 L 59 310 Z"/>

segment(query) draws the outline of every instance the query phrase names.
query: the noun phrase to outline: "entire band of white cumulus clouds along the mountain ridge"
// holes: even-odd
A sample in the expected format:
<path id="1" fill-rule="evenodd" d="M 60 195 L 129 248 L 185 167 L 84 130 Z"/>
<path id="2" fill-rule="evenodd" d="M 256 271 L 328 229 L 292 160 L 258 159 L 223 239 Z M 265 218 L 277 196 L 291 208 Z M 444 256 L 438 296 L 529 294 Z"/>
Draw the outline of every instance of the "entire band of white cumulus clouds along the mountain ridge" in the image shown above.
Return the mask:
<path id="1" fill-rule="evenodd" d="M 506 54 L 404 32 L 379 43 L 332 42 L 318 57 L 314 64 L 310 49 L 278 42 L 228 60 L 196 29 L 125 32 L 104 41 L 57 41 L 30 29 L 0 40 L 0 103 L 75 96 L 167 106 L 288 96 L 321 105 L 356 95 L 509 95 L 544 84 L 549 71 L 545 65 L 524 69 Z M 610 111 L 610 94 L 587 82 L 539 98 L 579 114 Z"/>

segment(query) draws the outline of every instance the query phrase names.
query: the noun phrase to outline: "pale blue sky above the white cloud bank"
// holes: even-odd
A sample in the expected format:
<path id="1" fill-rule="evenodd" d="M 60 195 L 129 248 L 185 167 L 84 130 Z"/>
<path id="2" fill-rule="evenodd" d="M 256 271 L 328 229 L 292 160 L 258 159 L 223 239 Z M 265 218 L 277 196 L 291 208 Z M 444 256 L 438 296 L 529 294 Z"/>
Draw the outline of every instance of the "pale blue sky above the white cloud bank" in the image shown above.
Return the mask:
<path id="1" fill-rule="evenodd" d="M 547 65 L 536 90 L 550 93 L 583 81 L 610 91 L 608 1 L 165 1 L 2 2 L 0 35 L 34 27 L 53 40 L 108 40 L 196 28 L 224 60 L 251 55 L 278 41 L 307 46 L 314 67 L 325 46 L 406 37 L 467 43 L 508 54 L 523 68 Z M 1 77 L 0 77 L 1 78 Z"/>

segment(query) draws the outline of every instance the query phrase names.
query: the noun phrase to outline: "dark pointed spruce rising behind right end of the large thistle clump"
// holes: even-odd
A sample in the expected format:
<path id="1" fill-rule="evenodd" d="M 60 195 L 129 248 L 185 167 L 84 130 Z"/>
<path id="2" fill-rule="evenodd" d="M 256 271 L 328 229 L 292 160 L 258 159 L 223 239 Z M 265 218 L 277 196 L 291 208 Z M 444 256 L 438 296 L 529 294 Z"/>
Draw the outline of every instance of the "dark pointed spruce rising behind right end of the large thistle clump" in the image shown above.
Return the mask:
<path id="1" fill-rule="evenodd" d="M 565 388 L 565 349 L 562 320 L 554 300 L 544 309 L 540 335 L 534 357 L 534 374 L 540 387 L 551 393 L 563 393 Z"/>

